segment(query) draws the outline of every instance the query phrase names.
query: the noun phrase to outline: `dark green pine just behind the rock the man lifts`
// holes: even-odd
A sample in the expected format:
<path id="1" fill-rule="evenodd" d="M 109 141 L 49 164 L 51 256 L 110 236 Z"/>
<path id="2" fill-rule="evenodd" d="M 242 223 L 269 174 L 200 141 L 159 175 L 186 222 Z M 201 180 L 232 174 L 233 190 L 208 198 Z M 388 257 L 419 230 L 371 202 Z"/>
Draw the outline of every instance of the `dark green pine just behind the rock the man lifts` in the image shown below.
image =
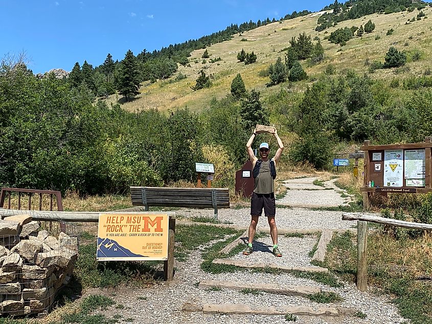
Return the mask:
<path id="1" fill-rule="evenodd" d="M 257 124 L 268 125 L 268 112 L 261 105 L 259 91 L 252 90 L 242 101 L 240 114 L 246 131 L 250 131 Z"/>

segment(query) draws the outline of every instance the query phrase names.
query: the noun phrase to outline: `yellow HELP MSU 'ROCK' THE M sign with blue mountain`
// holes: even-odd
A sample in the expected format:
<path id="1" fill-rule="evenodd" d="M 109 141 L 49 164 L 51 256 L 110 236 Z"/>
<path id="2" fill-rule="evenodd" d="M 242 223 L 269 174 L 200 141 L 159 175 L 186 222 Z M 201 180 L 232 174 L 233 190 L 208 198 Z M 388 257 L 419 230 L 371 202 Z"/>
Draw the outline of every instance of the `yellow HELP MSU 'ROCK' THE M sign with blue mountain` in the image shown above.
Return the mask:
<path id="1" fill-rule="evenodd" d="M 162 213 L 100 214 L 96 260 L 168 260 L 168 221 Z"/>

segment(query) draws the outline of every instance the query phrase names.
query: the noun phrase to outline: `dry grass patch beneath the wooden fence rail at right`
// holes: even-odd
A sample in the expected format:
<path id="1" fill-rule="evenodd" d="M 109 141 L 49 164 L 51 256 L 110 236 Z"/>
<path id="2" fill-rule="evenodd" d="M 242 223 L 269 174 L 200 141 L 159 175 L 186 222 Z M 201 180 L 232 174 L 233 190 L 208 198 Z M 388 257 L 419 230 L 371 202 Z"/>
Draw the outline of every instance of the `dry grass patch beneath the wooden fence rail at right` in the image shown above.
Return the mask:
<path id="1" fill-rule="evenodd" d="M 401 316 L 413 324 L 432 324 L 432 287 L 416 277 L 432 269 L 432 236 L 395 239 L 382 233 L 368 236 L 368 283 L 381 293 L 394 296 Z M 355 281 L 357 251 L 350 233 L 333 236 L 326 266 Z"/>

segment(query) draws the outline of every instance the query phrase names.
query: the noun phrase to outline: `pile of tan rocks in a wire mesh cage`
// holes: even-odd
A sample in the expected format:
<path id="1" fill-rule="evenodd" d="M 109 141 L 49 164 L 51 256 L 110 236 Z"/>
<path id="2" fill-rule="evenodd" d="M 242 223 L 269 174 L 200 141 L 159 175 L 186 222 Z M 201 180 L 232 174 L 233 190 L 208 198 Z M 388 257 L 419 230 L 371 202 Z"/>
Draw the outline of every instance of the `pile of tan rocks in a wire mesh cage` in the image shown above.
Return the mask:
<path id="1" fill-rule="evenodd" d="M 0 312 L 48 312 L 69 283 L 78 258 L 79 228 L 73 223 L 0 221 Z M 12 219 L 11 219 L 12 220 Z"/>

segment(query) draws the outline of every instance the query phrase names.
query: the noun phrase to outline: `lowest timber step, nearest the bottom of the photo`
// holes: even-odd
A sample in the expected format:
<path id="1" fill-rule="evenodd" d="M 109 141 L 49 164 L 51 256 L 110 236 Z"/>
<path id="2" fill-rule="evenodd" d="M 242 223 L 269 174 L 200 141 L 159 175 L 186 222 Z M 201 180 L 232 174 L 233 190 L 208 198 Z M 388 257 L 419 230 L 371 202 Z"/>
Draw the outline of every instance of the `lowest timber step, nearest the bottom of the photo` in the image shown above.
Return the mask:
<path id="1" fill-rule="evenodd" d="M 203 304 L 195 305 L 185 303 L 182 307 L 186 312 L 224 313 L 224 314 L 261 314 L 261 315 L 285 315 L 299 316 L 331 316 L 347 317 L 354 315 L 357 310 L 346 307 L 319 307 L 306 306 L 249 306 L 246 304 Z"/>

